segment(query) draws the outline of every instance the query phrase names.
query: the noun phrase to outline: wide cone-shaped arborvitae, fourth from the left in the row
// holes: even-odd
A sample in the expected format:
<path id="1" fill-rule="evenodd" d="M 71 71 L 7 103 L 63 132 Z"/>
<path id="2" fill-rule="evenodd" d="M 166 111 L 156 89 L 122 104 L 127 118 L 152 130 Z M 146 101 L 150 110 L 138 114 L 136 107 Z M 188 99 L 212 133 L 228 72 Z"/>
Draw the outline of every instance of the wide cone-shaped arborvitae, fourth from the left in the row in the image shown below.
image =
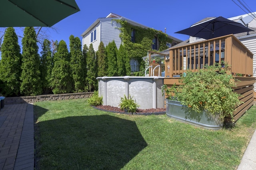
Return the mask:
<path id="1" fill-rule="evenodd" d="M 70 55 L 66 42 L 61 40 L 58 50 L 54 54 L 52 68 L 52 92 L 54 94 L 70 93 L 72 90 L 72 76 L 70 70 Z"/>

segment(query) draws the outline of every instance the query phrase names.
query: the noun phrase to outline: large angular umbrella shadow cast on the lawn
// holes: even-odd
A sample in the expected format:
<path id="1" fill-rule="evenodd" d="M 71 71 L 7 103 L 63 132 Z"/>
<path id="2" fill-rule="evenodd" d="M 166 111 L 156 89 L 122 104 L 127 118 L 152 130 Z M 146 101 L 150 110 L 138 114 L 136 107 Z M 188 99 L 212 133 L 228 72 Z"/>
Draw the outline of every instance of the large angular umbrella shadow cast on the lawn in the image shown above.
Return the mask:
<path id="1" fill-rule="evenodd" d="M 119 170 L 147 146 L 134 121 L 110 115 L 37 123 L 39 169 Z"/>

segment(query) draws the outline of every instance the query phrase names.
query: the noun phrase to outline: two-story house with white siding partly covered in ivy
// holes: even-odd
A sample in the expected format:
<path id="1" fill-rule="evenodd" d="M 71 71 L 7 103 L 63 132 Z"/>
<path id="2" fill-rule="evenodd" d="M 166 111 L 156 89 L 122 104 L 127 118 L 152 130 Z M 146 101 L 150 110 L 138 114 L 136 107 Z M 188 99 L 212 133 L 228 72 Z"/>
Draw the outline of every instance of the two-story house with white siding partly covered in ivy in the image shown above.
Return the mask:
<path id="1" fill-rule="evenodd" d="M 139 28 L 144 28 L 145 30 L 153 30 L 151 32 L 155 33 L 156 35 L 152 35 L 151 41 L 151 47 L 138 47 L 136 48 L 141 48 L 140 53 L 129 53 L 128 51 L 128 56 L 130 57 L 130 65 L 131 65 L 131 71 L 136 72 L 139 71 L 139 64 L 141 57 L 143 57 L 148 50 L 160 50 L 163 45 L 161 43 L 162 40 L 160 40 L 160 34 L 164 34 L 162 31 L 154 30 L 152 28 L 149 28 L 145 25 L 142 25 L 140 23 L 137 23 L 135 21 L 129 20 L 128 18 L 124 18 L 122 16 L 110 13 L 106 18 L 98 18 L 90 27 L 88 27 L 84 33 L 82 33 L 82 46 L 85 44 L 89 47 L 89 45 L 92 43 L 94 51 L 98 51 L 98 46 L 100 45 L 100 42 L 102 41 L 104 43 L 104 46 L 108 45 L 109 42 L 115 41 L 116 47 L 119 49 L 121 43 L 126 43 L 127 41 L 124 41 L 124 37 L 120 36 L 122 33 L 122 24 L 119 21 L 126 21 L 128 24 L 132 25 L 132 27 L 139 27 Z M 132 28 L 131 27 L 131 28 Z M 129 41 L 132 43 L 140 43 L 143 40 L 143 37 L 139 37 L 136 39 L 136 35 L 138 35 L 138 32 L 136 32 L 136 29 L 129 30 L 130 31 L 130 39 Z M 166 35 L 166 34 L 164 34 Z M 137 36 L 138 37 L 138 36 Z M 164 37 L 164 36 L 162 36 Z M 170 41 L 170 42 L 169 42 Z M 176 45 L 178 43 L 182 42 L 182 40 L 177 39 L 175 37 L 172 37 L 170 35 L 167 35 L 166 42 L 164 42 L 164 46 L 167 49 L 168 47 L 172 47 L 173 45 Z M 143 45 L 142 45 L 143 46 Z M 134 50 L 136 48 L 130 48 L 131 50 Z M 145 50 L 144 50 L 144 49 Z M 141 53 L 141 51 L 143 53 Z M 131 55 L 138 55 L 138 56 L 131 56 Z"/>

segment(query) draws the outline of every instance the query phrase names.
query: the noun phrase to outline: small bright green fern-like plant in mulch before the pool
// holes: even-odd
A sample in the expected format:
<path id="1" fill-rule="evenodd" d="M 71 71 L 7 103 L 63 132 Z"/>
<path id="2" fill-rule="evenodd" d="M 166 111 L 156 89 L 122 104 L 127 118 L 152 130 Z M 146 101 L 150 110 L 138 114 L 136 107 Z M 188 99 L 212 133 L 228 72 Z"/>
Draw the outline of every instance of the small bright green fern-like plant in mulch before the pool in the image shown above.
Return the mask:
<path id="1" fill-rule="evenodd" d="M 134 99 L 132 99 L 131 95 L 129 94 L 128 98 L 124 95 L 124 97 L 121 97 L 121 102 L 119 104 L 120 109 L 126 112 L 135 113 L 137 110 L 137 107 L 139 105 L 136 103 Z"/>

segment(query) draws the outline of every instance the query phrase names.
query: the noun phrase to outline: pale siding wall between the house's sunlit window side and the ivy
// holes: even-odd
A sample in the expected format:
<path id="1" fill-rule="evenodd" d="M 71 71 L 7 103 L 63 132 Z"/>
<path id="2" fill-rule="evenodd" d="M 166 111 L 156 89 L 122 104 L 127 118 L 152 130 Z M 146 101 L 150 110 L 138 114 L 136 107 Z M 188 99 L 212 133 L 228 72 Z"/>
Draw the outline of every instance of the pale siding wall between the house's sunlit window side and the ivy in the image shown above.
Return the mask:
<path id="1" fill-rule="evenodd" d="M 116 47 L 119 49 L 122 41 L 119 37 L 121 31 L 120 23 L 117 23 L 114 20 L 102 20 L 101 21 L 101 41 L 104 43 L 104 46 L 108 45 L 108 43 L 112 42 L 113 40 L 116 43 Z"/>

